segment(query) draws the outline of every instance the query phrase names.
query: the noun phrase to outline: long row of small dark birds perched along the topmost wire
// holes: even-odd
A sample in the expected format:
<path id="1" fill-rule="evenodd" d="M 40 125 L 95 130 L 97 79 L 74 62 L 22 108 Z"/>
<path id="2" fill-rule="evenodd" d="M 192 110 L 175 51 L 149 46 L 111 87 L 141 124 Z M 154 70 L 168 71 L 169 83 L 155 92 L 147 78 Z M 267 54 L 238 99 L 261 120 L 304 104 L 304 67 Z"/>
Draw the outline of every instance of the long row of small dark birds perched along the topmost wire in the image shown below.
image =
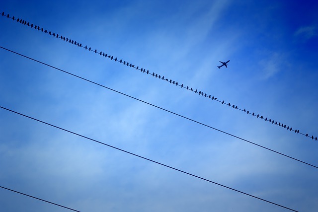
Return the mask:
<path id="1" fill-rule="evenodd" d="M 154 76 L 154 77 L 156 77 L 156 78 L 158 77 L 159 79 L 162 79 L 162 80 L 164 80 L 164 81 L 167 81 L 167 82 L 169 82 L 169 83 L 171 83 L 171 84 L 175 84 L 176 86 L 180 86 L 181 88 L 185 88 L 185 89 L 187 89 L 187 90 L 190 90 L 190 91 L 192 91 L 192 92 L 194 92 L 194 93 L 197 93 L 197 94 L 199 94 L 199 95 L 201 95 L 201 96 L 207 97 L 207 98 L 212 99 L 212 100 L 216 100 L 216 101 L 218 101 L 218 102 L 220 102 L 220 103 L 222 103 L 222 104 L 228 105 L 229 107 L 232 107 L 232 108 L 234 108 L 234 109 L 238 109 L 238 110 L 243 111 L 243 112 L 245 112 L 245 113 L 247 113 L 247 114 L 250 114 L 250 115 L 252 115 L 252 116 L 255 116 L 256 118 L 263 119 L 263 120 L 265 120 L 266 122 L 268 121 L 268 122 L 271 123 L 271 124 L 278 125 L 279 127 L 282 127 L 282 128 L 284 128 L 284 129 L 287 129 L 287 130 L 293 131 L 293 132 L 295 132 L 295 133 L 297 133 L 297 134 L 302 134 L 302 135 L 304 135 L 304 136 L 306 136 L 306 137 L 309 137 L 308 134 L 300 133 L 299 130 L 293 130 L 292 127 L 289 127 L 289 126 L 286 127 L 286 125 L 281 124 L 280 122 L 277 123 L 277 121 L 274 122 L 274 120 L 272 120 L 272 119 L 267 119 L 266 117 L 264 118 L 263 116 L 261 116 L 261 115 L 259 115 L 259 114 L 255 115 L 255 113 L 253 113 L 253 112 L 251 113 L 251 112 L 249 112 L 248 110 L 239 109 L 238 106 L 236 106 L 236 105 L 234 105 L 234 104 L 231 105 L 231 103 L 225 103 L 224 100 L 223 100 L 223 101 L 220 101 L 220 100 L 218 100 L 218 98 L 216 98 L 216 97 L 214 97 L 214 96 L 211 96 L 211 95 L 208 95 L 208 94 L 202 92 L 201 90 L 199 90 L 199 91 L 198 91 L 197 89 L 194 90 L 192 87 L 184 86 L 183 84 L 180 84 L 180 83 L 178 83 L 178 82 L 175 81 L 175 80 L 165 78 L 164 76 L 161 76 L 161 75 L 159 75 L 158 73 L 155 73 L 155 72 L 151 73 L 149 70 L 146 71 L 146 69 L 144 69 L 144 68 L 139 68 L 139 66 L 135 66 L 135 65 L 133 65 L 132 63 L 123 61 L 122 59 L 118 59 L 117 57 L 111 56 L 111 55 L 109 55 L 109 54 L 105 54 L 104 52 L 99 52 L 99 51 L 97 51 L 97 49 L 93 50 L 91 47 L 87 47 L 87 45 L 85 45 L 85 47 L 84 47 L 81 43 L 79 43 L 79 42 L 77 42 L 77 41 L 71 40 L 71 39 L 69 39 L 69 38 L 65 38 L 64 36 L 59 35 L 59 34 L 55 34 L 54 32 L 52 33 L 51 31 L 48 31 L 48 30 L 43 29 L 43 28 L 40 28 L 40 26 L 37 26 L 37 25 L 34 25 L 34 24 L 30 24 L 29 22 L 27 22 L 27 21 L 25 21 L 25 20 L 22 20 L 22 19 L 19 19 L 19 18 L 15 19 L 14 16 L 10 17 L 9 14 L 4 15 L 4 12 L 2 12 L 2 16 L 6 16 L 7 18 L 11 18 L 13 21 L 16 20 L 18 23 L 27 25 L 27 26 L 29 26 L 29 27 L 31 27 L 31 28 L 34 27 L 34 28 L 35 28 L 36 30 L 38 30 L 38 31 L 42 31 L 42 32 L 47 33 L 47 34 L 49 34 L 49 35 L 53 35 L 53 37 L 61 38 L 61 40 L 63 40 L 63 41 L 69 42 L 69 43 L 74 44 L 74 45 L 76 45 L 76 46 L 78 46 L 78 47 L 85 48 L 85 50 L 94 52 L 95 54 L 99 54 L 100 56 L 109 58 L 110 60 L 114 60 L 115 62 L 119 62 L 120 64 L 123 64 L 123 65 L 125 65 L 125 66 L 127 66 L 127 67 L 131 67 L 131 68 L 134 68 L 134 69 L 136 69 L 136 70 L 140 70 L 141 72 L 150 74 L 150 75 L 152 75 L 152 76 Z M 311 138 L 312 138 L 312 140 L 316 140 L 316 141 L 318 140 L 317 137 L 314 138 L 314 136 L 311 136 Z"/>

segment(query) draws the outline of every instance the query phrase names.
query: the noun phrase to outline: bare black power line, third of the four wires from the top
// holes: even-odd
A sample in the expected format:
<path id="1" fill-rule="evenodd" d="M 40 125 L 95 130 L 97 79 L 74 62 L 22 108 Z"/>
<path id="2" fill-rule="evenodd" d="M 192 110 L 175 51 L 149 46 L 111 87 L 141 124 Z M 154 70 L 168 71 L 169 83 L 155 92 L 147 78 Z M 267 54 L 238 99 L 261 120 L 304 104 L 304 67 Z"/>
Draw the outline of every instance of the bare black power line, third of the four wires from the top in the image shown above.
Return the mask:
<path id="1" fill-rule="evenodd" d="M 178 172 L 181 172 L 181 173 L 184 173 L 184 174 L 187 174 L 187 175 L 190 175 L 190 176 L 193 176 L 193 177 L 199 178 L 199 179 L 201 179 L 201 180 L 204 180 L 204 181 L 207 181 L 207 182 L 210 182 L 210 183 L 214 183 L 214 184 L 216 184 L 216 185 L 218 185 L 218 186 L 222 186 L 222 187 L 224 187 L 224 188 L 227 188 L 227 189 L 230 189 L 230 190 L 233 190 L 233 191 L 239 192 L 239 193 L 244 194 L 244 195 L 247 195 L 247 196 L 249 196 L 249 197 L 253 197 L 253 198 L 256 198 L 256 199 L 258 199 L 258 200 L 261 200 L 261 201 L 264 201 L 264 202 L 267 202 L 267 203 L 270 203 L 270 204 L 273 204 L 273 205 L 276 205 L 276 206 L 279 206 L 279 207 L 282 207 L 282 208 L 285 208 L 285 209 L 288 209 L 288 210 L 291 210 L 291 211 L 297 212 L 296 210 L 293 210 L 293 209 L 287 208 L 287 207 L 285 207 L 285 206 L 282 206 L 282 205 L 279 205 L 279 204 L 273 203 L 273 202 L 271 202 L 271 201 L 268 201 L 268 200 L 262 199 L 262 198 L 260 198 L 260 197 L 257 197 L 257 196 L 254 196 L 254 195 L 251 195 L 251 194 L 248 194 L 248 193 L 245 193 L 245 192 L 239 191 L 239 190 L 234 189 L 234 188 L 231 188 L 231 187 L 229 187 L 229 186 L 222 185 L 222 184 L 220 184 L 220 183 L 214 182 L 214 181 L 212 181 L 212 180 L 208 180 L 208 179 L 203 178 L 203 177 L 200 177 L 200 176 L 198 176 L 198 175 L 191 174 L 191 173 L 186 172 L 186 171 L 182 171 L 181 169 L 174 168 L 174 167 L 172 167 L 172 166 L 169 166 L 169 165 L 166 165 L 166 164 L 160 163 L 160 162 L 158 162 L 158 161 L 155 161 L 155 160 L 149 159 L 149 158 L 147 158 L 147 157 L 143 157 L 143 156 L 141 156 L 141 155 L 138 155 L 138 154 L 132 153 L 132 152 L 130 152 L 130 151 L 126 151 L 126 150 L 124 150 L 124 149 L 121 149 L 121 148 L 118 148 L 118 147 L 112 146 L 112 145 L 110 145 L 110 144 L 107 144 L 107 143 L 104 143 L 104 142 L 101 142 L 101 141 L 97 141 L 97 140 L 91 139 L 91 138 L 89 138 L 89 137 L 86 137 L 86 136 L 80 135 L 80 134 L 75 133 L 75 132 L 72 132 L 72 131 L 70 131 L 70 130 L 66 130 L 66 129 L 61 128 L 61 127 L 58 127 L 58 126 L 56 126 L 56 125 L 49 124 L 49 123 L 44 122 L 44 121 L 41 121 L 41 120 L 39 120 L 39 119 L 35 119 L 35 118 L 33 118 L 33 117 L 30 117 L 30 116 L 24 115 L 24 114 L 22 114 L 22 113 L 19 113 L 19 112 L 16 112 L 16 111 L 13 111 L 13 110 L 7 109 L 7 108 L 5 108 L 5 107 L 0 106 L 0 108 L 2 108 L 2 109 L 4 109 L 4 110 L 7 110 L 7 111 L 10 111 L 10 112 L 12 112 L 12 113 L 15 113 L 15 114 L 18 114 L 18 115 L 24 116 L 24 117 L 26 117 L 26 118 L 29 118 L 29 119 L 35 120 L 35 121 L 37 121 L 37 122 L 40 122 L 40 123 L 43 123 L 43 124 L 49 125 L 49 126 L 51 126 L 51 127 L 54 127 L 54 128 L 60 129 L 60 130 L 63 130 L 63 131 L 65 131 L 65 132 L 71 133 L 71 134 L 76 135 L 76 136 L 79 136 L 79 137 L 81 137 L 81 138 L 84 138 L 84 139 L 87 139 L 87 140 L 90 140 L 90 141 L 94 141 L 94 142 L 97 142 L 97 143 L 100 143 L 100 144 L 106 145 L 106 146 L 108 146 L 108 147 L 111 147 L 111 148 L 114 148 L 114 149 L 120 150 L 120 151 L 122 151 L 122 152 L 125 152 L 125 153 L 128 153 L 128 154 L 131 154 L 131 155 L 134 155 L 134 156 L 136 156 L 136 157 L 139 157 L 139 158 L 142 158 L 142 159 L 145 159 L 145 160 L 151 161 L 151 162 L 153 162 L 153 163 L 157 163 L 157 164 L 159 164 L 159 165 L 161 165 L 161 166 L 165 166 L 165 167 L 170 168 L 170 169 L 173 169 L 173 170 L 175 170 L 175 171 L 178 171 Z"/>

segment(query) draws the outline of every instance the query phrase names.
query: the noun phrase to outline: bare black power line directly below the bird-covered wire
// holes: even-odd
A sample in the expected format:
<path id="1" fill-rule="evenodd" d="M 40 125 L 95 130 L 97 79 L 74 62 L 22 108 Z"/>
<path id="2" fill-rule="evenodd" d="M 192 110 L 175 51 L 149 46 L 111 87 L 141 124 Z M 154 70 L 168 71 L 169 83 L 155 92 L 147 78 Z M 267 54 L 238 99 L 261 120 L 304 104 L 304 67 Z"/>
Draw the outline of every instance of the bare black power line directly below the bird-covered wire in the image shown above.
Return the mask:
<path id="1" fill-rule="evenodd" d="M 267 147 L 265 147 L 265 146 L 259 145 L 259 144 L 257 144 L 257 143 L 252 142 L 252 141 L 248 141 L 248 140 L 242 139 L 242 138 L 240 138 L 240 137 L 238 137 L 238 136 L 232 135 L 232 134 L 227 133 L 227 132 L 225 132 L 225 131 L 219 130 L 219 129 L 217 129 L 217 128 L 214 128 L 214 127 L 211 127 L 211 126 L 209 126 L 209 125 L 203 124 L 203 123 L 201 123 L 201 122 L 195 121 L 195 120 L 190 119 L 190 118 L 188 118 L 188 117 L 185 117 L 185 116 L 182 116 L 182 115 L 180 115 L 180 114 L 174 113 L 174 112 L 172 112 L 172 111 L 169 111 L 169 110 L 164 109 L 164 108 L 162 108 L 162 107 L 159 107 L 159 106 L 157 106 L 157 105 L 151 104 L 151 103 L 149 103 L 149 102 L 143 101 L 143 100 L 138 99 L 138 98 L 136 98 L 136 97 L 133 97 L 133 96 L 130 96 L 130 95 L 128 95 L 128 94 L 122 93 L 122 92 L 120 92 L 120 91 L 114 90 L 114 89 L 112 89 L 112 88 L 109 88 L 109 87 L 104 86 L 104 85 L 102 85 L 102 84 L 99 84 L 99 83 L 97 83 L 97 82 L 91 81 L 91 80 L 89 80 L 89 79 L 83 78 L 83 77 L 78 76 L 78 75 L 76 75 L 76 74 L 70 73 L 70 72 L 68 72 L 68 71 L 64 71 L 64 70 L 62 70 L 62 69 L 59 69 L 59 68 L 56 68 L 56 67 L 54 67 L 54 66 L 48 65 L 48 64 L 46 64 L 46 63 L 40 62 L 40 61 L 38 61 L 38 60 L 35 60 L 35 59 L 33 59 L 33 58 L 30 58 L 30 57 L 27 57 L 27 56 L 25 56 L 25 55 L 19 54 L 19 53 L 17 53 L 17 52 L 12 51 L 12 50 L 6 49 L 6 48 L 4 48 L 4 47 L 1 47 L 1 46 L 0 46 L 0 48 L 1 48 L 1 49 L 4 49 L 4 50 L 7 50 L 7 51 L 9 51 L 9 52 L 12 52 L 12 53 L 14 53 L 14 54 L 17 54 L 17 55 L 19 55 L 19 56 L 22 56 L 22 57 L 24 57 L 24 58 L 30 59 L 30 60 L 32 60 L 32 61 L 38 62 L 38 63 L 40 63 L 40 64 L 43 64 L 43 65 L 45 65 L 45 66 L 51 67 L 51 68 L 53 68 L 53 69 L 55 69 L 55 70 L 62 71 L 62 72 L 64 72 L 64 73 L 67 73 L 67 74 L 70 74 L 70 75 L 72 75 L 72 76 L 78 77 L 78 78 L 80 78 L 80 79 L 82 79 L 82 80 L 85 80 L 85 81 L 87 81 L 87 82 L 91 82 L 91 83 L 93 83 L 93 84 L 95 84 L 95 85 L 101 86 L 101 87 L 106 88 L 106 89 L 108 89 L 108 90 L 111 90 L 111 91 L 114 91 L 114 92 L 116 92 L 116 93 L 122 94 L 122 95 L 124 95 L 124 96 L 129 97 L 129 98 L 132 98 L 132 99 L 135 99 L 135 100 L 137 100 L 137 101 L 143 102 L 143 103 L 145 103 L 145 104 L 151 105 L 151 106 L 156 107 L 156 108 L 158 108 L 158 109 L 160 109 L 160 110 L 163 110 L 163 111 L 165 111 L 165 112 L 168 112 L 168 113 L 171 113 L 171 114 L 173 114 L 173 115 L 179 116 L 179 117 L 181 117 L 181 118 L 187 119 L 187 120 L 189 120 L 189 121 L 191 121 L 191 122 L 195 122 L 195 123 L 200 124 L 200 125 L 202 125 L 202 126 L 205 126 L 205 127 L 210 128 L 210 129 L 213 129 L 213 130 L 219 131 L 219 132 L 221 132 L 221 133 L 227 134 L 227 135 L 232 136 L 232 137 L 234 137 L 234 138 L 237 138 L 237 139 L 239 139 L 239 140 L 241 140 L 241 141 L 246 141 L 246 142 L 251 143 L 251 144 L 254 144 L 254 145 L 258 146 L 258 147 L 267 149 L 267 150 L 269 150 L 269 151 L 275 152 L 275 153 L 277 153 L 277 154 L 280 154 L 280 155 L 282 155 L 282 156 L 288 157 L 288 158 L 290 158 L 290 159 L 293 159 L 293 160 L 299 161 L 299 162 L 301 162 L 301 163 L 310 165 L 310 166 L 312 166 L 312 167 L 318 168 L 318 166 L 315 166 L 315 165 L 312 165 L 312 164 L 307 163 L 307 162 L 305 162 L 305 161 L 302 161 L 302 160 L 296 159 L 296 158 L 294 158 L 294 157 L 288 156 L 288 155 L 286 155 L 286 154 L 283 154 L 283 153 L 281 153 L 281 152 L 278 152 L 278 151 L 275 151 L 275 150 L 273 150 L 273 149 L 267 148 Z"/>

